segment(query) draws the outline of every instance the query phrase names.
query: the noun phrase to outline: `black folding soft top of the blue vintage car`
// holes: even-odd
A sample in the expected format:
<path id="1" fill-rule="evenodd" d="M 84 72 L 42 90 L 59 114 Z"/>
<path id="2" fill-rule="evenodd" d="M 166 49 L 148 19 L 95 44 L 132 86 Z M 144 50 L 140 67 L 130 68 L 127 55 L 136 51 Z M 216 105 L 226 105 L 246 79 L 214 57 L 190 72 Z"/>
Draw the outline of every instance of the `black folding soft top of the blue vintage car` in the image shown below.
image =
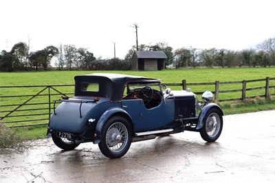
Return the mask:
<path id="1" fill-rule="evenodd" d="M 109 98 L 112 102 L 122 98 L 124 87 L 127 83 L 160 83 L 156 78 L 131 76 L 125 74 L 94 73 L 75 76 L 75 96 L 100 96 Z M 85 92 L 81 90 L 83 83 L 98 83 L 98 92 Z"/>

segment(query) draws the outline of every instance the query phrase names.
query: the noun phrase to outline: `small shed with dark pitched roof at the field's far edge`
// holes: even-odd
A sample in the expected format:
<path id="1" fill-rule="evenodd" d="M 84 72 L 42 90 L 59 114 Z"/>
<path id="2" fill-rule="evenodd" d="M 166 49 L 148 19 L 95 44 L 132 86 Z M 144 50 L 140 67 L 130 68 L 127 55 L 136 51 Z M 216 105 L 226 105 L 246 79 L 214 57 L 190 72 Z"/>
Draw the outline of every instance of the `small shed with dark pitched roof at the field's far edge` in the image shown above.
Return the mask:
<path id="1" fill-rule="evenodd" d="M 132 70 L 162 70 L 165 68 L 166 58 L 163 51 L 135 51 L 131 58 Z"/>

